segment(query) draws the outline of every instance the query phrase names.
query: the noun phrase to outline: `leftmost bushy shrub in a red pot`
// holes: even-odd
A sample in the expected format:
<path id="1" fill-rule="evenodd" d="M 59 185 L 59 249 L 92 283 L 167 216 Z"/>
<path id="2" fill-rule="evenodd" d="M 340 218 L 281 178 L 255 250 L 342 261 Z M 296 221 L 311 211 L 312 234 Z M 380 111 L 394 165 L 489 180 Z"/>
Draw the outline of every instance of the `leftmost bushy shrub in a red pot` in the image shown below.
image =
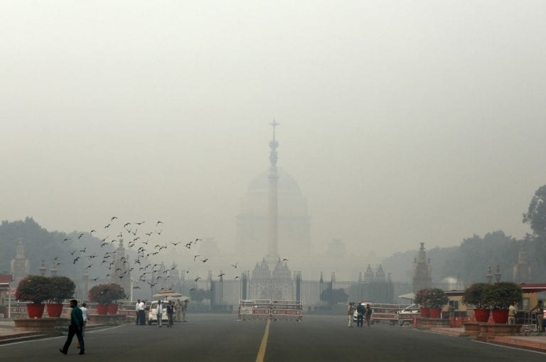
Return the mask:
<path id="1" fill-rule="evenodd" d="M 19 301 L 28 301 L 26 310 L 30 318 L 43 316 L 44 300 L 50 298 L 50 279 L 41 275 L 29 275 L 19 282 L 15 298 Z"/>

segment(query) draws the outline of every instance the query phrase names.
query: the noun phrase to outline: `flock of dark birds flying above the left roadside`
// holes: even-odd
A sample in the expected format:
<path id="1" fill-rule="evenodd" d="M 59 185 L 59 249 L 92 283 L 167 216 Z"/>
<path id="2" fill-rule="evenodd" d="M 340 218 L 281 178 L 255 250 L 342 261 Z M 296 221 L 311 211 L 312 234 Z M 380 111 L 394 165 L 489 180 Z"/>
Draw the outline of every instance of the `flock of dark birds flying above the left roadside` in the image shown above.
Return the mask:
<path id="1" fill-rule="evenodd" d="M 105 225 L 102 228 L 103 230 L 105 230 L 105 232 L 107 232 L 109 230 L 114 230 L 114 228 L 117 228 L 119 226 L 120 231 L 119 231 L 119 234 L 116 235 L 116 238 L 110 238 L 109 236 L 106 236 L 105 238 L 100 239 L 100 247 L 102 248 L 107 245 L 113 246 L 114 243 L 119 241 L 119 239 L 124 237 L 128 238 L 129 241 L 127 243 L 127 247 L 137 252 L 137 257 L 132 262 L 132 265 L 134 265 L 134 267 L 131 267 L 129 269 L 127 269 L 126 267 L 123 267 L 123 268 L 119 267 L 120 266 L 119 262 L 122 262 L 124 265 L 127 264 L 127 262 L 129 262 L 127 260 L 127 257 L 129 257 L 129 255 L 127 254 L 124 257 L 121 257 L 118 264 L 116 264 L 115 250 L 110 252 L 105 252 L 104 255 L 102 255 L 102 260 L 100 260 L 99 255 L 97 255 L 96 253 L 88 255 L 87 246 L 82 247 L 81 249 L 80 247 L 77 247 L 75 250 L 71 251 L 70 255 L 71 255 L 71 258 L 73 258 L 71 262 L 74 265 L 76 265 L 77 263 L 85 262 L 84 263 L 85 272 L 87 272 L 94 265 L 95 266 L 98 265 L 97 261 L 95 261 L 95 259 L 98 258 L 97 260 L 100 260 L 100 266 L 106 267 L 107 270 L 109 271 L 109 273 L 105 275 L 104 278 L 112 278 L 112 276 L 114 276 L 114 277 L 118 277 L 121 282 L 124 277 L 130 278 L 130 274 L 133 270 L 137 270 L 139 274 L 138 282 L 146 282 L 146 284 L 149 284 L 150 287 L 152 288 L 155 287 L 155 285 L 159 282 L 159 280 L 161 279 L 168 280 L 168 278 L 171 277 L 171 275 L 168 275 L 168 273 L 171 272 L 172 270 L 176 270 L 176 265 L 173 265 L 173 267 L 170 267 L 170 268 L 165 268 L 162 263 L 152 264 L 151 262 L 149 262 L 150 261 L 149 257 L 154 257 L 159 255 L 162 252 L 162 250 L 167 250 L 168 248 L 171 248 L 171 245 L 172 245 L 172 248 L 176 248 L 178 245 L 180 245 L 183 242 L 181 241 L 169 242 L 169 243 L 165 243 L 165 245 L 158 244 L 156 243 L 156 241 L 154 241 L 154 237 L 156 235 L 161 235 L 161 233 L 163 233 L 162 228 L 161 230 L 157 230 L 160 227 L 162 227 L 163 222 L 161 220 L 157 220 L 155 225 L 152 224 L 154 225 L 153 227 L 154 230 L 149 230 L 146 233 L 142 233 L 142 231 L 139 232 L 139 228 L 140 229 L 146 228 L 146 225 L 144 225 L 145 223 L 146 221 L 141 221 L 139 223 L 134 223 L 134 224 L 133 223 L 122 224 L 121 222 L 119 222 L 119 219 L 117 218 L 117 216 L 113 216 L 112 218 L 110 218 L 109 223 L 107 223 L 107 225 Z M 90 231 L 90 235 L 92 236 L 94 236 L 95 233 L 97 233 L 97 230 L 95 229 Z M 85 233 L 80 233 L 77 235 L 77 239 L 80 240 L 84 236 L 85 236 Z M 71 241 L 73 241 L 71 238 L 65 238 L 62 242 L 70 243 Z M 198 244 L 198 242 L 201 242 L 201 241 L 203 240 L 196 238 L 196 240 L 192 240 L 184 244 L 183 246 L 188 248 L 188 250 L 191 250 L 192 247 L 194 247 L 195 245 Z M 152 247 L 152 245 L 154 246 Z M 53 258 L 53 265 L 55 267 L 57 265 L 61 265 L 61 263 L 58 262 L 58 258 L 59 256 L 56 256 Z M 193 262 L 205 263 L 205 262 L 208 262 L 208 260 L 209 260 L 208 257 L 204 257 L 202 255 L 193 256 Z M 287 260 L 287 259 L 284 259 L 284 260 Z M 234 264 L 231 264 L 230 266 L 233 267 L 234 269 L 237 269 L 237 262 L 235 262 Z M 190 270 L 191 268 L 187 270 L 183 270 L 183 272 L 186 272 L 186 274 L 188 274 Z M 218 274 L 218 277 L 223 277 L 224 275 L 225 273 L 220 272 L 220 274 Z M 100 278 L 102 278 L 102 276 L 94 277 L 90 280 L 96 282 Z M 235 280 L 237 280 L 238 278 L 239 276 L 235 276 Z M 194 279 L 194 282 L 197 282 L 200 279 L 202 278 L 197 275 Z M 133 289 L 140 289 L 138 282 L 137 282 L 137 285 L 133 287 Z"/>

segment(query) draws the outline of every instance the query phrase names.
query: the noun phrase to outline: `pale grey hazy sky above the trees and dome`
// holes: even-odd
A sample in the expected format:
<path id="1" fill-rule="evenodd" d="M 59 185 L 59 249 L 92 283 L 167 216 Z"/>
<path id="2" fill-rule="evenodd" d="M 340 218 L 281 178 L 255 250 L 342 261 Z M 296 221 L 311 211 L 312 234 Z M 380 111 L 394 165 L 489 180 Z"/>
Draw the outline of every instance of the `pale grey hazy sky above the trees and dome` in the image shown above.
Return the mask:
<path id="1" fill-rule="evenodd" d="M 0 1 L 0 33 L 1 220 L 231 251 L 274 118 L 319 251 L 521 238 L 546 183 L 545 1 Z"/>

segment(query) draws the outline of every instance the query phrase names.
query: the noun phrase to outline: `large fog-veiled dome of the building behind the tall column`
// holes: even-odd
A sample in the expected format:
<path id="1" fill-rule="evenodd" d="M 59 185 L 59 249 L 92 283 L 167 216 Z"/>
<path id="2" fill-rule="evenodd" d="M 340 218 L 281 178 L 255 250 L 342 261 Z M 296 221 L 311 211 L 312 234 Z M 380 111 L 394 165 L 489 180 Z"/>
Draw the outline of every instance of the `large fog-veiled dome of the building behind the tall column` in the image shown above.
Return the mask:
<path id="1" fill-rule="evenodd" d="M 311 235 L 307 199 L 298 183 L 283 169 L 278 169 L 278 252 L 279 257 L 298 259 L 309 255 Z M 237 215 L 237 252 L 262 257 L 267 253 L 269 225 L 269 171 L 250 182 Z"/>

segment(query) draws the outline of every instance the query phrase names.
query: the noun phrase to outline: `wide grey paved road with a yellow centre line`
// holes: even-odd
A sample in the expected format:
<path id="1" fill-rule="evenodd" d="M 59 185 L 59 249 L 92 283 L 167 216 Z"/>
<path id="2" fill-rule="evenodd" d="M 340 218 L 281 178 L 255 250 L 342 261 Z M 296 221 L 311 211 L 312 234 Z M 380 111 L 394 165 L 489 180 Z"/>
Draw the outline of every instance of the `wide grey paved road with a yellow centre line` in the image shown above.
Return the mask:
<path id="1" fill-rule="evenodd" d="M 188 323 L 124 326 L 91 331 L 85 356 L 65 337 L 0 346 L 0 361 L 545 361 L 545 353 L 481 344 L 411 327 L 346 326 L 343 316 L 304 316 L 304 321 L 236 321 L 233 315 L 189 316 Z M 264 340 L 264 332 L 268 338 Z M 74 342 L 75 343 L 75 342 Z M 262 346 L 262 348 L 260 348 Z"/>

